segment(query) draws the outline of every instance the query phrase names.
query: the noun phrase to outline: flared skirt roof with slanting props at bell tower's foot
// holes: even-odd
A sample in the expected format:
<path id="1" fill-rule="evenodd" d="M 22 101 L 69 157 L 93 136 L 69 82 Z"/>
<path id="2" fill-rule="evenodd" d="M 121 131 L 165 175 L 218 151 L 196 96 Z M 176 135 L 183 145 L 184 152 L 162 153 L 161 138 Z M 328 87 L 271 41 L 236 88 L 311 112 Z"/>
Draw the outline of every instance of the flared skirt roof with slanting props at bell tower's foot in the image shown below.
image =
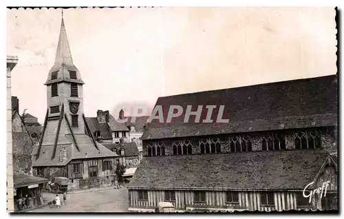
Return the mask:
<path id="1" fill-rule="evenodd" d="M 96 149 L 94 147 L 94 143 L 92 142 L 92 138 L 85 134 L 74 134 L 78 149 L 73 144 L 74 140 L 71 134 L 65 134 L 65 139 L 59 138 L 59 143 L 56 145 L 56 155 L 54 159 L 52 159 L 52 153 L 54 145 L 42 145 L 41 146 L 41 153 L 39 158 L 32 162 L 32 166 L 34 167 L 41 167 L 41 166 L 64 166 L 69 163 L 70 160 L 75 159 L 85 159 L 85 158 L 105 158 L 105 157 L 114 157 L 118 156 L 114 152 L 111 152 L 109 149 L 100 145 L 100 143 L 96 142 L 97 147 L 100 149 Z M 60 142 L 61 139 L 61 142 Z M 67 140 L 67 142 L 65 141 Z M 63 141 L 65 141 L 63 143 Z M 67 159 L 63 162 L 60 162 L 59 152 L 62 147 L 65 147 L 67 151 Z M 34 152 L 32 154 L 37 154 L 39 146 L 34 147 Z"/>

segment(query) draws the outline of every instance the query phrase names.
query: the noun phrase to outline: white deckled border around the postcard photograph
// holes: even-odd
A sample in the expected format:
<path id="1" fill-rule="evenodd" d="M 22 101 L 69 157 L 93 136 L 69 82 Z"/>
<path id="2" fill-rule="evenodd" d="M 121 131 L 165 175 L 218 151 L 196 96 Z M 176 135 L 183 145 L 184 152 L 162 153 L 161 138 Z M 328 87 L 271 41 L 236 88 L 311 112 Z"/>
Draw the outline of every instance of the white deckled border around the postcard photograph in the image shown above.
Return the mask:
<path id="1" fill-rule="evenodd" d="M 255 1 L 255 0 L 240 0 L 240 1 L 219 1 L 219 0 L 208 0 L 208 1 L 204 1 L 204 0 L 197 0 L 197 1 L 190 1 L 190 0 L 173 0 L 173 1 L 166 1 L 166 0 L 155 0 L 155 1 L 130 1 L 130 0 L 126 0 L 126 1 L 105 1 L 105 0 L 97 0 L 97 1 L 79 1 L 78 3 L 76 1 L 66 1 L 66 0 L 59 0 L 59 1 L 25 1 L 25 0 L 21 0 L 21 1 L 6 1 L 5 6 L 47 6 L 47 7 L 53 7 L 53 6 L 200 6 L 200 7 L 206 7 L 206 6 L 339 6 L 339 8 L 344 8 L 343 7 L 343 2 L 344 1 L 338 1 L 338 0 L 327 0 L 327 1 L 305 1 L 305 0 L 289 0 L 289 1 Z M 1 3 L 3 3 L 3 1 L 1 1 Z M 3 6 L 1 7 L 1 46 L 3 46 L 2 50 L 3 53 L 6 53 L 6 8 Z M 3 13 L 2 13 L 3 12 Z M 342 25 L 341 25 L 342 26 Z M 343 28 L 342 28 L 343 29 Z M 343 34 L 343 33 L 342 33 Z M 342 37 L 343 39 L 343 37 Z M 343 43 L 343 40 L 341 41 Z M 3 54 L 3 61 L 5 60 L 5 56 L 7 54 Z M 343 56 L 343 55 L 342 55 Z M 342 58 L 343 59 L 343 58 Z M 343 61 L 341 59 L 341 61 Z M 1 62 L 1 67 L 3 69 L 3 74 L 5 74 L 5 63 Z M 341 76 L 342 78 L 343 76 Z M 5 76 L 3 75 L 1 78 L 1 87 L 3 87 L 1 89 L 1 99 L 5 100 L 5 96 L 6 96 L 6 92 L 5 92 L 5 87 L 6 87 L 6 79 Z M 340 81 L 339 83 L 342 83 L 342 81 Z M 343 94 L 340 94 L 341 96 L 343 96 Z M 340 101 L 341 102 L 341 101 Z M 4 101 L 3 101 L 4 103 Z M 3 107 L 3 110 L 5 109 L 5 107 Z M 6 145 L 5 139 L 6 139 L 6 135 L 5 135 L 5 130 L 6 130 L 6 116 L 5 116 L 5 112 L 0 114 L 0 118 L 1 118 L 1 134 L 3 135 L 3 138 L 1 138 L 3 140 L 3 143 L 1 144 L 1 155 L 3 156 L 3 159 L 1 159 L 2 164 L 0 165 L 0 169 L 1 169 L 1 174 L 2 176 L 5 176 L 5 172 L 6 172 L 6 158 L 5 158 L 5 154 L 6 154 L 6 147 L 4 145 Z M 341 133 L 340 133 L 341 136 Z M 338 145 L 339 147 L 340 145 Z M 341 160 L 342 161 L 342 160 Z M 5 180 L 1 180 L 1 182 L 3 183 L 3 185 L 1 185 L 1 194 L 5 194 Z M 342 181 L 341 181 L 341 185 L 342 185 Z M 343 188 L 343 187 L 341 187 Z M 341 194 L 343 194 L 343 192 L 341 192 Z M 341 195 L 340 194 L 340 195 Z M 2 197 L 3 197 L 2 196 Z M 5 198 L 1 198 L 1 203 L 3 203 L 4 205 L 1 205 L 3 211 L 1 213 L 1 216 L 4 217 L 9 217 L 9 214 L 5 211 L 5 205 L 6 205 L 6 200 Z M 341 196 L 341 209 L 343 210 L 343 196 Z M 21 215 L 21 216 L 17 216 L 19 218 L 21 217 L 28 217 L 28 216 L 34 216 L 37 217 L 37 215 Z M 43 216 L 45 217 L 45 215 L 39 215 L 39 216 Z M 114 217 L 116 215 L 109 215 L 110 217 Z M 130 215 L 118 215 L 121 218 L 127 218 L 130 217 Z M 144 218 L 147 217 L 149 215 L 134 215 L 135 217 L 138 218 Z M 155 215 L 157 216 L 157 215 Z M 183 215 L 184 216 L 184 215 Z M 200 214 L 200 216 L 197 217 L 201 217 L 204 216 L 204 214 Z M 215 215 L 212 215 L 215 217 Z M 236 215 L 237 216 L 237 215 Z M 268 216 L 268 214 L 259 214 L 259 216 Z M 271 216 L 279 216 L 276 214 L 273 214 Z M 312 214 L 312 216 L 317 217 L 316 215 Z M 319 217 L 323 217 L 325 216 L 324 214 L 319 215 Z M 49 216 L 50 217 L 50 216 Z M 65 218 L 69 218 L 72 216 L 66 216 L 63 215 L 63 217 Z M 76 216 L 74 215 L 74 217 L 82 217 L 80 215 Z M 100 216 L 92 216 L 95 218 L 98 218 Z M 149 216 L 151 217 L 151 216 Z M 244 215 L 244 217 L 246 218 L 256 218 L 257 216 L 246 216 Z M 282 215 L 281 217 L 290 217 L 288 214 L 287 215 Z M 303 215 L 299 215 L 298 217 L 303 217 Z M 194 218 L 194 217 L 193 217 Z"/>

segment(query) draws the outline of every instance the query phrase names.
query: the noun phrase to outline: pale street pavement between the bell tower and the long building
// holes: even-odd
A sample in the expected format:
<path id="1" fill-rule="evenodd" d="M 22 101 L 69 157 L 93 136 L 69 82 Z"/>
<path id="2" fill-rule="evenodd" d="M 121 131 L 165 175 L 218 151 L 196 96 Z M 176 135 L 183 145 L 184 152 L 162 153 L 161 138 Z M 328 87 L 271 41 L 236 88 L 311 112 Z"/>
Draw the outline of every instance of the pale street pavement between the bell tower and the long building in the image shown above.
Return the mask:
<path id="1" fill-rule="evenodd" d="M 54 194 L 43 194 L 44 199 L 53 200 Z M 63 194 L 60 194 L 62 200 Z M 50 209 L 49 206 L 28 212 L 126 212 L 129 208 L 128 190 L 107 189 L 67 195 L 68 205 Z"/>

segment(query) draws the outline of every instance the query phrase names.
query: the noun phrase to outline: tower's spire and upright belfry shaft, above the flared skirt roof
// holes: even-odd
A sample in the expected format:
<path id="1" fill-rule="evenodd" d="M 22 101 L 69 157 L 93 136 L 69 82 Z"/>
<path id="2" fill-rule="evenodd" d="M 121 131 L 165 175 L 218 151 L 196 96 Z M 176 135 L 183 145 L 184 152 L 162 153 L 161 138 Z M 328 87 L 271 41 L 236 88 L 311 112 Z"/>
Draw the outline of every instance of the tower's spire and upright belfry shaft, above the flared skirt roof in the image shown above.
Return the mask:
<path id="1" fill-rule="evenodd" d="M 45 82 L 47 86 L 47 119 L 56 120 L 61 114 L 65 114 L 74 134 L 85 134 L 83 84 L 80 72 L 72 60 L 62 14 L 55 63 Z"/>

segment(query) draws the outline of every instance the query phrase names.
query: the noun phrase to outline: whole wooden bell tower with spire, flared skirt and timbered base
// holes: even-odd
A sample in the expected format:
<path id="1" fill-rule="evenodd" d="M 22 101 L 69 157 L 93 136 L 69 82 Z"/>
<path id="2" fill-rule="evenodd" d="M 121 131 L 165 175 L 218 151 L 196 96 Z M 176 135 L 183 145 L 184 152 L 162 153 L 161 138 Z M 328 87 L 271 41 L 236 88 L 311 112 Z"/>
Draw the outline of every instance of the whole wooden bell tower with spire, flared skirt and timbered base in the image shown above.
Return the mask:
<path id="1" fill-rule="evenodd" d="M 84 82 L 72 61 L 63 17 L 55 62 L 45 85 L 47 111 L 33 151 L 34 176 L 52 181 L 55 177 L 69 178 L 69 190 L 111 185 L 118 155 L 98 143 L 87 125 Z"/>

